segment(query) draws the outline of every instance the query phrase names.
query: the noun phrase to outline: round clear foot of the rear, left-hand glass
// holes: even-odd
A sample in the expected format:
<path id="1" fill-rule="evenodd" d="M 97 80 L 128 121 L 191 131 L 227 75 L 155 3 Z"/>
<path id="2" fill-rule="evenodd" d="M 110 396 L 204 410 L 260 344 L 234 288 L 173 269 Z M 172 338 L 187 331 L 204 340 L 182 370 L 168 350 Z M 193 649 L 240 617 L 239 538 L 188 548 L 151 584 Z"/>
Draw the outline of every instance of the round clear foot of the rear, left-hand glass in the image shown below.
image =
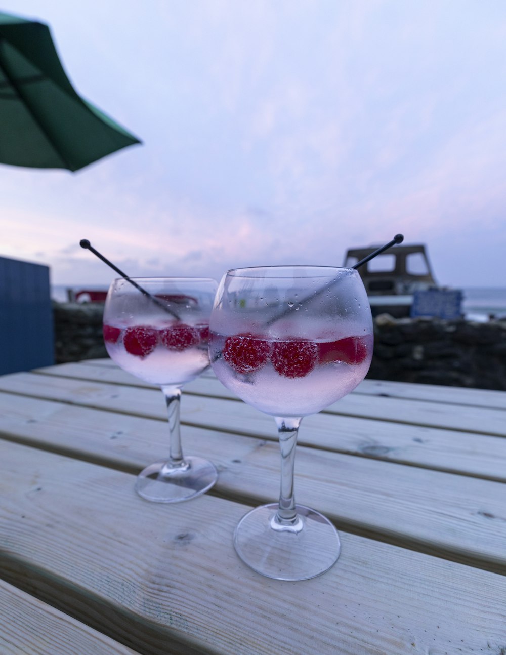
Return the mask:
<path id="1" fill-rule="evenodd" d="M 162 460 L 139 473 L 136 491 L 151 502 L 181 502 L 205 493 L 217 479 L 214 464 L 202 457 L 185 457 L 183 466 Z"/>

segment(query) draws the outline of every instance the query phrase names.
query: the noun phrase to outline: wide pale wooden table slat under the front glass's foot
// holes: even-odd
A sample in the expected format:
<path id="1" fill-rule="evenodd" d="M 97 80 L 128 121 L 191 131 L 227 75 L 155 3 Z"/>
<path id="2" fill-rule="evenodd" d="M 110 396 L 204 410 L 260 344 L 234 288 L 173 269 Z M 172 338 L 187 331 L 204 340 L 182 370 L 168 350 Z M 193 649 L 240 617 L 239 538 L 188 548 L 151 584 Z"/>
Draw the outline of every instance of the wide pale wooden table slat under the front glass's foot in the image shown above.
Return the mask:
<path id="1" fill-rule="evenodd" d="M 325 575 L 268 580 L 234 553 L 232 532 L 245 511 L 238 503 L 206 495 L 146 504 L 128 474 L 14 443 L 2 455 L 3 574 L 109 637 L 130 639 L 139 652 L 422 655 L 506 647 L 503 576 L 342 534 L 342 555 Z M 301 620 L 309 616 L 310 629 Z"/>

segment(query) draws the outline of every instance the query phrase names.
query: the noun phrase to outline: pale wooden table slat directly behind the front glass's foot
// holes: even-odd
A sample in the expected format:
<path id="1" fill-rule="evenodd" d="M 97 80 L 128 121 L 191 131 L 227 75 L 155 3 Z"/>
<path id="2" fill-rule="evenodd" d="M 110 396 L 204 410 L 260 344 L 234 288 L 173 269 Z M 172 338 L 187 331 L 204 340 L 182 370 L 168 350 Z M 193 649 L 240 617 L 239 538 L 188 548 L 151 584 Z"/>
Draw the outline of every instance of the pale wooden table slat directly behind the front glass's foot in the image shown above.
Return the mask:
<path id="1" fill-rule="evenodd" d="M 79 445 L 82 458 L 132 472 L 168 454 L 165 421 L 15 396 L 11 402 L 3 414 L 10 412 L 7 436 L 12 440 L 74 456 Z M 33 403 L 31 409 L 28 402 Z M 33 419 L 26 419 L 30 411 Z M 280 479 L 276 441 L 194 426 L 185 426 L 183 434 L 185 452 L 208 457 L 217 465 L 215 491 L 253 505 L 276 500 Z M 350 531 L 506 571 L 502 483 L 298 447 L 296 492 L 299 502 Z"/>

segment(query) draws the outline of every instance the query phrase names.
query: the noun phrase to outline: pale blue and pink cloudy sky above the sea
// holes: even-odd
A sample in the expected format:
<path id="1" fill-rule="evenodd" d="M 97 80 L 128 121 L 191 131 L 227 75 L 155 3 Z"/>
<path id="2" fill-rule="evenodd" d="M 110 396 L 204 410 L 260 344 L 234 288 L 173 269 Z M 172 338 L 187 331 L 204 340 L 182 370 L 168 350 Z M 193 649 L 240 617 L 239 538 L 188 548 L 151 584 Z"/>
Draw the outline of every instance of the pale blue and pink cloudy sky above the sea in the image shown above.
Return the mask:
<path id="1" fill-rule="evenodd" d="M 505 0 L 16 0 L 136 145 L 0 164 L 0 255 L 53 284 L 342 265 L 396 233 L 506 286 Z"/>

